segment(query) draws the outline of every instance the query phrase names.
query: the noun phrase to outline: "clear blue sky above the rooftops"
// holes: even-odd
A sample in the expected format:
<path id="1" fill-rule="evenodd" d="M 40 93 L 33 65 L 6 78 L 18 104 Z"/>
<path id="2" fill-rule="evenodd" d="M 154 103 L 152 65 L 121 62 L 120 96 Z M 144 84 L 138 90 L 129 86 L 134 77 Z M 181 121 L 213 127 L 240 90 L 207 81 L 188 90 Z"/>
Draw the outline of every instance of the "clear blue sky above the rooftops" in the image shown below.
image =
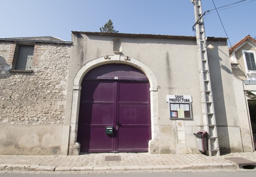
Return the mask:
<path id="1" fill-rule="evenodd" d="M 216 7 L 240 0 L 214 0 Z M 203 11 L 214 9 L 202 0 Z M 55 36 L 71 41 L 71 31 L 99 32 L 111 19 L 121 33 L 194 36 L 190 0 L 0 0 L 0 38 Z M 256 0 L 219 9 L 232 45 L 250 34 L 256 37 Z M 206 36 L 226 37 L 218 13 L 205 15 Z"/>

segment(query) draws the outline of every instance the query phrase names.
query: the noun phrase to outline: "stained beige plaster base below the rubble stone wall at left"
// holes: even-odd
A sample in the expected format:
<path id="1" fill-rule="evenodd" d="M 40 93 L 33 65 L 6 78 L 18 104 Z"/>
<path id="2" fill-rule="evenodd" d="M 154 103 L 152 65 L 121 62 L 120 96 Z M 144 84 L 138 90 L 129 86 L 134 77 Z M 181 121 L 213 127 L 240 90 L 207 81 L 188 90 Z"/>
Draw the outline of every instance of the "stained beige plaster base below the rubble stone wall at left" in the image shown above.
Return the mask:
<path id="1" fill-rule="evenodd" d="M 61 141 L 62 125 L 0 124 L 0 154 L 60 154 Z"/>

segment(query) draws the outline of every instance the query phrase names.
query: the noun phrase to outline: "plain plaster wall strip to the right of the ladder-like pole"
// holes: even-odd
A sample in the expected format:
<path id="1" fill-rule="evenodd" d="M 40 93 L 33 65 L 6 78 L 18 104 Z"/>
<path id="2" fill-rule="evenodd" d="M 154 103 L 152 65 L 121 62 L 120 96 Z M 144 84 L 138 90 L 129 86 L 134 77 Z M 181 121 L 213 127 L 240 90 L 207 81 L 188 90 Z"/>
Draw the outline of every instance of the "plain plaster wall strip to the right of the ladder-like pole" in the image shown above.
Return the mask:
<path id="1" fill-rule="evenodd" d="M 214 41 L 209 41 L 217 46 Z M 220 153 L 242 152 L 240 121 L 237 113 L 233 74 L 226 41 L 209 50 L 209 66 L 215 105 Z"/>

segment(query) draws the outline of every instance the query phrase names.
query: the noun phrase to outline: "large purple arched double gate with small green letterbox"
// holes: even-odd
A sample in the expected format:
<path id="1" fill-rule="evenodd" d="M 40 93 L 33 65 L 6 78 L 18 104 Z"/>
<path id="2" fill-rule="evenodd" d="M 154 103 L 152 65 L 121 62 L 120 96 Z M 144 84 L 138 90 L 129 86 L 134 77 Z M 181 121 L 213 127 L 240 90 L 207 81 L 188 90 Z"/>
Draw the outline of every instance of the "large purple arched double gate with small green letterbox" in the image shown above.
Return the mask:
<path id="1" fill-rule="evenodd" d="M 80 151 L 148 151 L 150 86 L 141 70 L 126 64 L 101 65 L 83 77 L 81 87 Z"/>

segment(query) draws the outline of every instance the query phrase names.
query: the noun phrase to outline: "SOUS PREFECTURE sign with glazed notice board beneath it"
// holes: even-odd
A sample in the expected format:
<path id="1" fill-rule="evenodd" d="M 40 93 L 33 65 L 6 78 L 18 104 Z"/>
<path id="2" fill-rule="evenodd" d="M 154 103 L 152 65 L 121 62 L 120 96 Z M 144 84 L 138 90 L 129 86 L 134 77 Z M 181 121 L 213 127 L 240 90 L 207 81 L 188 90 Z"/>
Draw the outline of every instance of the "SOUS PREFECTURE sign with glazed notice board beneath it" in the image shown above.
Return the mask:
<path id="1" fill-rule="evenodd" d="M 166 95 L 166 102 L 169 105 L 170 118 L 191 119 L 191 95 Z"/>

